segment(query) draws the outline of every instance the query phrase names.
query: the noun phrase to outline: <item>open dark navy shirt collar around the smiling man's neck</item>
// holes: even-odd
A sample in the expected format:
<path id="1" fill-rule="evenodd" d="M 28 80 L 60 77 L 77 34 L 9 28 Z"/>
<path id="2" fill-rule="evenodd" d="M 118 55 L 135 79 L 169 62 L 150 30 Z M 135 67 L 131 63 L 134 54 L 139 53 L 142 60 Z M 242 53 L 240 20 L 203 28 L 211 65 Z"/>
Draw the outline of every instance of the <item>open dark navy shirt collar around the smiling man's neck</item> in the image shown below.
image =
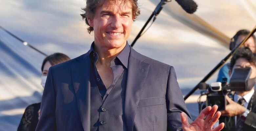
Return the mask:
<path id="1" fill-rule="evenodd" d="M 128 42 L 126 42 L 126 45 L 124 47 L 124 49 L 117 55 L 117 58 L 120 60 L 120 62 L 128 69 L 128 60 L 129 60 L 129 55 L 130 55 L 130 46 L 128 44 Z M 89 54 L 90 56 L 93 54 L 97 55 L 97 52 L 94 49 L 94 42 L 91 45 L 91 48 L 89 50 Z"/>

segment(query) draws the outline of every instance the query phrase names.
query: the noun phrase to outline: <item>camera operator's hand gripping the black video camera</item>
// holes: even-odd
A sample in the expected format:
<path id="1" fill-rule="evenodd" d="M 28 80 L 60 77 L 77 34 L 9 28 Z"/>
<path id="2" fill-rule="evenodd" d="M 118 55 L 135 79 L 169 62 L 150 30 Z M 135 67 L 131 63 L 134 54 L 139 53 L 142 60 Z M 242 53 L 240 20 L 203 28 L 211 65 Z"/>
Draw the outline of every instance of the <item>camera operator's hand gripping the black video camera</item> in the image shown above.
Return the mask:
<path id="1" fill-rule="evenodd" d="M 229 104 L 226 105 L 225 110 L 221 111 L 222 116 L 232 117 L 242 115 L 245 112 L 246 108 L 244 106 L 232 101 L 228 96 L 226 96 L 226 100 Z"/>

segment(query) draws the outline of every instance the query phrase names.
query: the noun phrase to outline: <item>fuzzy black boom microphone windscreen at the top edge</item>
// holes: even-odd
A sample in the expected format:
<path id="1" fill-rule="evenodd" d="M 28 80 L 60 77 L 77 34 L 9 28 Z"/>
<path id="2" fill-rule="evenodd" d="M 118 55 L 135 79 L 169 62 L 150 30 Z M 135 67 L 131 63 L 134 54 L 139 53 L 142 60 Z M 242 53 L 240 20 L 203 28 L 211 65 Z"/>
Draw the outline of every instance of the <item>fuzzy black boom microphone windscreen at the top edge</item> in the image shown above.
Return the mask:
<path id="1" fill-rule="evenodd" d="M 193 0 L 176 0 L 187 13 L 193 14 L 197 10 L 197 4 Z"/>

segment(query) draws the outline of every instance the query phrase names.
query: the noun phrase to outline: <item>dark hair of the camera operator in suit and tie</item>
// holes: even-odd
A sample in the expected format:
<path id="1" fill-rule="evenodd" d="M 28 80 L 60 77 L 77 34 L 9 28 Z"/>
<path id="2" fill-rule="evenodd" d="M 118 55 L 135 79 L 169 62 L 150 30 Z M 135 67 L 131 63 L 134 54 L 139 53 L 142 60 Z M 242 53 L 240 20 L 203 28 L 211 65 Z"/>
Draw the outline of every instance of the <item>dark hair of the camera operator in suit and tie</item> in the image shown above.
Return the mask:
<path id="1" fill-rule="evenodd" d="M 231 58 L 230 61 L 230 70 L 233 69 L 234 65 L 236 64 L 236 61 L 239 58 L 244 58 L 246 59 L 249 63 L 253 64 L 254 66 L 255 64 L 255 58 L 254 55 L 252 53 L 252 51 L 250 50 L 249 47 L 241 47 L 239 49 L 237 49 L 236 53 L 233 55 L 233 57 Z"/>

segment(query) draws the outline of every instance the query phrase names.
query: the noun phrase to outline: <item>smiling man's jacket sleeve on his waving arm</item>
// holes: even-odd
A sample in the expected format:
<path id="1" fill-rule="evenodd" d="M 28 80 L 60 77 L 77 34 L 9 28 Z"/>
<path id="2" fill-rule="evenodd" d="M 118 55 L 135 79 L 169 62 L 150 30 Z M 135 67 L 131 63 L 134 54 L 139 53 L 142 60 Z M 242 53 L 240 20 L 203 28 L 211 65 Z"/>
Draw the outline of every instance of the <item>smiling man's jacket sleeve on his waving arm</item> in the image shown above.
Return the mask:
<path id="1" fill-rule="evenodd" d="M 186 108 L 181 89 L 177 82 L 177 76 L 174 67 L 170 67 L 167 92 L 166 92 L 166 106 L 167 106 L 167 130 L 176 131 L 181 127 L 180 113 L 184 112 L 188 116 L 188 122 L 191 123 L 191 116 Z"/>

